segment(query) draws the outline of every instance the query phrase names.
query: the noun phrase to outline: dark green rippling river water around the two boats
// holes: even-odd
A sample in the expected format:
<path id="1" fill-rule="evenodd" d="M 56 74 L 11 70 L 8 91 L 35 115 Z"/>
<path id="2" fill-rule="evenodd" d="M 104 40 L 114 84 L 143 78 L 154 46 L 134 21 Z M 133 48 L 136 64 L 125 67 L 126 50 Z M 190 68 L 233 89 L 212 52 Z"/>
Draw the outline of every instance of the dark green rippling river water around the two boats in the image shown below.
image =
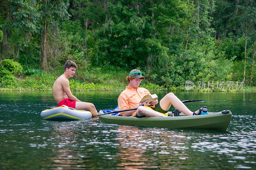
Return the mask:
<path id="1" fill-rule="evenodd" d="M 162 98 L 167 92 L 156 93 Z M 73 92 L 97 110 L 120 92 Z M 51 92 L 0 92 L 0 169 L 256 169 L 256 93 L 174 92 L 195 111 L 232 111 L 226 131 L 45 121 Z M 174 110 L 171 107 L 170 110 Z"/>

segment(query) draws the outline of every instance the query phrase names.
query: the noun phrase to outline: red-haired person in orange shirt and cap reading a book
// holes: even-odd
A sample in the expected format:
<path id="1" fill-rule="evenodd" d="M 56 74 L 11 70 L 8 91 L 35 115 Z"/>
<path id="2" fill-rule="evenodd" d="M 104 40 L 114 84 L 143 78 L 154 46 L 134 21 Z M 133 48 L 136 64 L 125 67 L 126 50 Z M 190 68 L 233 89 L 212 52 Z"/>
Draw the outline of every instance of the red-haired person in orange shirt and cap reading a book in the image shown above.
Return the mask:
<path id="1" fill-rule="evenodd" d="M 129 76 L 126 77 L 127 82 L 129 83 L 128 86 L 125 88 L 125 90 L 119 95 L 118 97 L 118 107 L 119 110 L 124 109 L 131 109 L 136 108 L 138 109 L 136 111 L 130 110 L 130 111 L 124 111 L 120 112 L 122 116 L 134 116 L 134 117 L 166 117 L 165 115 L 161 113 L 167 113 L 168 110 L 171 107 L 171 104 L 180 110 L 181 112 L 185 113 L 187 116 L 191 115 L 198 115 L 201 113 L 201 109 L 192 112 L 190 111 L 184 103 L 180 101 L 180 99 L 175 96 L 173 93 L 168 93 L 165 95 L 160 102 L 158 103 L 158 99 L 153 101 L 152 103 L 139 103 L 140 100 L 145 95 L 151 95 L 149 91 L 145 88 L 139 88 L 140 81 L 144 80 L 144 73 L 141 73 L 140 70 L 133 69 Z M 151 106 L 153 110 L 148 109 L 144 106 Z M 179 112 L 176 113 L 179 116 Z"/>

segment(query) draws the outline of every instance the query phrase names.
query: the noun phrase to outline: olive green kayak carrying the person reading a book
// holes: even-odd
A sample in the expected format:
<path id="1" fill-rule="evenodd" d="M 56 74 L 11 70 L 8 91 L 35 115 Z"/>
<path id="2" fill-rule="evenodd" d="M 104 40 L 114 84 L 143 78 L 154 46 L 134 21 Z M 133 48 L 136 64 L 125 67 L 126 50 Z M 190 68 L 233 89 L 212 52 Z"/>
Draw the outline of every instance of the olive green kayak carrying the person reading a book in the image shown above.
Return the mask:
<path id="1" fill-rule="evenodd" d="M 187 129 L 216 129 L 226 130 L 230 123 L 232 116 L 231 111 L 224 110 L 220 112 L 209 112 L 207 115 L 186 116 L 180 113 L 179 117 L 124 117 L 101 115 L 104 114 L 102 110 L 99 112 L 101 122 L 109 124 L 124 124 L 147 127 L 163 127 L 163 128 L 187 128 Z M 171 114 L 171 112 L 168 112 Z M 101 116 L 100 116 L 101 115 Z"/>

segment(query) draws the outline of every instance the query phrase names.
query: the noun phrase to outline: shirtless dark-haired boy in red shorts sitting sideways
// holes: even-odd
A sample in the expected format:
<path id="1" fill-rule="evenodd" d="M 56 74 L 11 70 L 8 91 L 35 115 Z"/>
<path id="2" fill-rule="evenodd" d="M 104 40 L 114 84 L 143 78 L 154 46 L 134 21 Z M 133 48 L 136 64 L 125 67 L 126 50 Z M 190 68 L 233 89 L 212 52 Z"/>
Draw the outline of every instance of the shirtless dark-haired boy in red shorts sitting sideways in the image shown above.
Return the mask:
<path id="1" fill-rule="evenodd" d="M 76 68 L 76 63 L 67 60 L 64 65 L 64 74 L 60 75 L 52 86 L 53 97 L 58 103 L 58 106 L 66 105 L 76 110 L 89 110 L 92 113 L 92 116 L 98 115 L 98 112 L 92 103 L 81 102 L 72 95 L 69 89 L 68 79 L 74 76 Z"/>

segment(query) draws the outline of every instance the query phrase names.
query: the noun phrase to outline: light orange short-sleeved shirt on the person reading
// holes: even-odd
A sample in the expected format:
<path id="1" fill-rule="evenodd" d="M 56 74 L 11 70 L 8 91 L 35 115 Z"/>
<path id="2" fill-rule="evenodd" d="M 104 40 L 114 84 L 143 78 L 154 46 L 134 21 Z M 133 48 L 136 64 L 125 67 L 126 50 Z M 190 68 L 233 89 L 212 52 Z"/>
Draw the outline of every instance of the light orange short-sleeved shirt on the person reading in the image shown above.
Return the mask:
<path id="1" fill-rule="evenodd" d="M 146 95 L 151 94 L 145 88 L 138 87 L 136 91 L 131 87 L 126 87 L 117 99 L 119 110 L 135 108 L 140 104 L 140 100 Z M 122 113 L 123 112 L 120 112 L 121 115 Z M 136 116 L 136 111 L 132 113 L 132 116 Z"/>

